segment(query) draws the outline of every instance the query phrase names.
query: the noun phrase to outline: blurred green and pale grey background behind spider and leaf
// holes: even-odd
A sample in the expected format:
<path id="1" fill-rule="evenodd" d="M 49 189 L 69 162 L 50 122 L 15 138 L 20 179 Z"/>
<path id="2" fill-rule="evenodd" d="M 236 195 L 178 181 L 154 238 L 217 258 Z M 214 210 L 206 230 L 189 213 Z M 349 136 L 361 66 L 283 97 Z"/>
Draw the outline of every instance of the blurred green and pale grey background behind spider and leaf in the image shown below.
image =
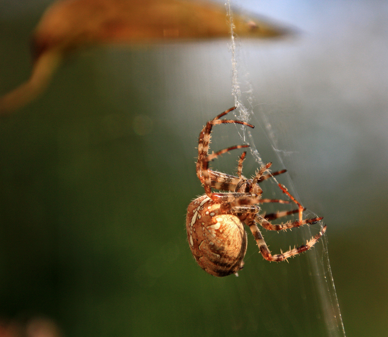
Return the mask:
<path id="1" fill-rule="evenodd" d="M 29 35 L 49 3 L 1 2 L 2 94 L 28 78 Z M 241 42 L 253 140 L 325 217 L 346 334 L 387 336 L 388 5 L 233 4 L 300 29 Z M 234 104 L 227 43 L 78 52 L 40 99 L 0 122 L 0 317 L 45 315 L 65 336 L 340 336 L 324 323 L 319 293 L 333 292 L 320 283 L 327 268 L 314 268 L 321 243 L 270 264 L 249 236 L 238 278 L 211 277 L 191 256 L 197 137 Z M 241 143 L 234 126 L 220 128 L 213 150 Z M 213 167 L 232 173 L 236 158 Z M 248 159 L 246 175 L 256 166 Z M 263 235 L 277 252 L 311 233 Z"/>

